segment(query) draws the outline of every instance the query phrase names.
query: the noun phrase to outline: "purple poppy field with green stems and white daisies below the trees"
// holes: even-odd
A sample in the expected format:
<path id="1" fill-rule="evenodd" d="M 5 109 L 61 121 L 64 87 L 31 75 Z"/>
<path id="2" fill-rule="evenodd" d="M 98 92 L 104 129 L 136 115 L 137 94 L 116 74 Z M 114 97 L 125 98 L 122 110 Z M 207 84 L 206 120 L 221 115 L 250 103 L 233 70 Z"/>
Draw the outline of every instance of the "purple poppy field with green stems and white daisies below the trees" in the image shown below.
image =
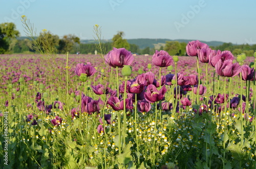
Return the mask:
<path id="1" fill-rule="evenodd" d="M 1 166 L 255 168 L 256 56 L 186 52 L 1 55 Z"/>

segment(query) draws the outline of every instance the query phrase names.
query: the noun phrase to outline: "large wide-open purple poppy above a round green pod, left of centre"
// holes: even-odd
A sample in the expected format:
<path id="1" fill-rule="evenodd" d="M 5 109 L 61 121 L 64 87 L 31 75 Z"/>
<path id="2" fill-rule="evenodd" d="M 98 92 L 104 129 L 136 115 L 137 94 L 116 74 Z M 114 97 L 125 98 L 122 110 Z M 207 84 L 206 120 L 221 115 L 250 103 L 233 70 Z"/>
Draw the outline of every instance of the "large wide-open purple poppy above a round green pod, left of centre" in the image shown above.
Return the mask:
<path id="1" fill-rule="evenodd" d="M 123 67 L 123 65 L 131 65 L 133 63 L 133 54 L 124 48 L 113 50 L 104 56 L 105 63 L 111 67 Z"/>

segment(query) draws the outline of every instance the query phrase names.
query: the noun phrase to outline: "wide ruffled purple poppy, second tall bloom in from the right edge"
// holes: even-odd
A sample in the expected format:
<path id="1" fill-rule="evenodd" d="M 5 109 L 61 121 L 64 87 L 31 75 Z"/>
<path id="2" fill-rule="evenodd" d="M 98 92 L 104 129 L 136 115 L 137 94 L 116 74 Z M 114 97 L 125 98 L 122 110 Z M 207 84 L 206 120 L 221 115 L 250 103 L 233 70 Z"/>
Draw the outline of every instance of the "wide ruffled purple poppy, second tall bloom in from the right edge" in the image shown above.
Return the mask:
<path id="1" fill-rule="evenodd" d="M 230 59 L 224 60 L 224 62 L 219 60 L 215 65 L 216 73 L 222 77 L 237 76 L 242 71 L 241 66 L 239 65 L 239 63 L 232 64 L 232 62 L 233 61 Z"/>

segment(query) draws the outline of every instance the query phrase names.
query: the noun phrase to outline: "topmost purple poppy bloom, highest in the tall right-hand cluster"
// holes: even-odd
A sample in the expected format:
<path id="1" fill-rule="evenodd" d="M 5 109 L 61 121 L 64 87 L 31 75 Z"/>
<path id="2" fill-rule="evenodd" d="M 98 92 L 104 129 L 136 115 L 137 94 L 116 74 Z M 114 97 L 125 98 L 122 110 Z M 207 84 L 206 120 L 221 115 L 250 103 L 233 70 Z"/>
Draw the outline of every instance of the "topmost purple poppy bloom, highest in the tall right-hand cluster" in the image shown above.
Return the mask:
<path id="1" fill-rule="evenodd" d="M 188 56 L 198 56 L 198 49 L 208 49 L 209 46 L 199 40 L 190 41 L 186 45 L 186 52 Z"/>

